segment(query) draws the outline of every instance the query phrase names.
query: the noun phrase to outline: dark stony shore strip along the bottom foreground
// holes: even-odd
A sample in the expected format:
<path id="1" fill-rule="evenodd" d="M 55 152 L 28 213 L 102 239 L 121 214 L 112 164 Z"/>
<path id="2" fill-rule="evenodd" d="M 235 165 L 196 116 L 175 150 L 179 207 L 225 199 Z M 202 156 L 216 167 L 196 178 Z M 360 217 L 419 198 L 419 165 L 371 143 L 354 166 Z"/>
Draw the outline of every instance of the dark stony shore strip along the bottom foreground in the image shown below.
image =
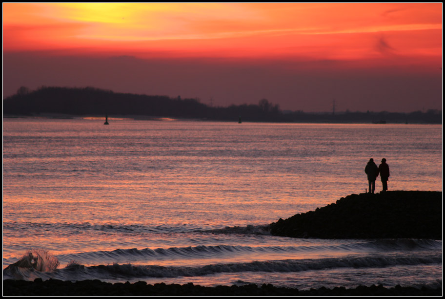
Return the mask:
<path id="1" fill-rule="evenodd" d="M 205 287 L 188 284 L 147 284 L 144 281 L 135 283 L 107 283 L 98 279 L 82 281 L 63 281 L 48 279 L 42 281 L 3 280 L 3 296 L 441 296 L 442 288 L 417 289 L 397 285 L 385 288 L 383 285 L 358 286 L 354 289 L 335 287 L 332 289 L 298 290 L 276 287 L 272 284 L 247 284 L 242 286 Z"/>

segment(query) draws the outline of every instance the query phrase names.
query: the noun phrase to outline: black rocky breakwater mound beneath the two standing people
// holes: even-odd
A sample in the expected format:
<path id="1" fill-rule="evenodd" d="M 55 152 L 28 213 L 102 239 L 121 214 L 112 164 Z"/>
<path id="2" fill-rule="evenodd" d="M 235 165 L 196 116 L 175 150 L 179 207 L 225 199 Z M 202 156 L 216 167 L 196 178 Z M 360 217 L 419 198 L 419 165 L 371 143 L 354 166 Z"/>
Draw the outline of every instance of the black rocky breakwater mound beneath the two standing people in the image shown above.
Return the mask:
<path id="1" fill-rule="evenodd" d="M 442 192 L 351 194 L 336 203 L 271 223 L 272 235 L 297 238 L 442 239 Z"/>

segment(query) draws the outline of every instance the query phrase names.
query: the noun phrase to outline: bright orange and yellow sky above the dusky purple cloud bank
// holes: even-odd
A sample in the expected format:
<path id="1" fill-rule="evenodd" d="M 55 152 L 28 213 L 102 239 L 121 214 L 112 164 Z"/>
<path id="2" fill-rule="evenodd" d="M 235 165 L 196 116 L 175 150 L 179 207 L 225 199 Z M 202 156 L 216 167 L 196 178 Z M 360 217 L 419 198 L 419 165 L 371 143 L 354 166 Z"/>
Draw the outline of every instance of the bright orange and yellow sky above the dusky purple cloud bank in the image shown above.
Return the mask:
<path id="1" fill-rule="evenodd" d="M 441 56 L 442 3 L 4 3 L 3 51 Z"/>

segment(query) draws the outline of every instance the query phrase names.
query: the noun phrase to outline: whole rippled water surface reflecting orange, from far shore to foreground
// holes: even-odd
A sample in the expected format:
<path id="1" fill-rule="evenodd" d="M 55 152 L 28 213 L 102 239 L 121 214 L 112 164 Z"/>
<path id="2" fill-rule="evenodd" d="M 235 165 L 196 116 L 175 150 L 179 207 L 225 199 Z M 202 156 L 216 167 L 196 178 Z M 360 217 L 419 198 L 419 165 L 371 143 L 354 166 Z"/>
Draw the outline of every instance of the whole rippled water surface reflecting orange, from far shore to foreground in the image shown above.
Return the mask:
<path id="1" fill-rule="evenodd" d="M 4 119 L 3 269 L 36 249 L 60 264 L 21 279 L 441 284 L 442 241 L 264 229 L 364 192 L 371 157 L 389 190 L 442 191 L 438 125 Z"/>

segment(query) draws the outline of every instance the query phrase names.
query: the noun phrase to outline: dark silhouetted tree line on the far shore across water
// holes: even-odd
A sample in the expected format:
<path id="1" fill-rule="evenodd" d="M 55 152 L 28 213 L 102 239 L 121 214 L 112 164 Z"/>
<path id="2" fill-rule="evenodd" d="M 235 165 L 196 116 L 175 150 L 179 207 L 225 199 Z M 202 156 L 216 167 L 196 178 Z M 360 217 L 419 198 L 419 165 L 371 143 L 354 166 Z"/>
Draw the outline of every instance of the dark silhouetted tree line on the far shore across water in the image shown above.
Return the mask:
<path id="1" fill-rule="evenodd" d="M 94 87 L 46 87 L 31 91 L 20 87 L 15 95 L 3 99 L 3 115 L 142 115 L 183 119 L 252 122 L 319 122 L 319 123 L 429 123 L 441 124 L 442 111 L 428 110 L 411 113 L 350 112 L 306 113 L 282 111 L 267 99 L 258 105 L 210 107 L 199 99 L 171 98 L 159 95 L 117 93 Z"/>

